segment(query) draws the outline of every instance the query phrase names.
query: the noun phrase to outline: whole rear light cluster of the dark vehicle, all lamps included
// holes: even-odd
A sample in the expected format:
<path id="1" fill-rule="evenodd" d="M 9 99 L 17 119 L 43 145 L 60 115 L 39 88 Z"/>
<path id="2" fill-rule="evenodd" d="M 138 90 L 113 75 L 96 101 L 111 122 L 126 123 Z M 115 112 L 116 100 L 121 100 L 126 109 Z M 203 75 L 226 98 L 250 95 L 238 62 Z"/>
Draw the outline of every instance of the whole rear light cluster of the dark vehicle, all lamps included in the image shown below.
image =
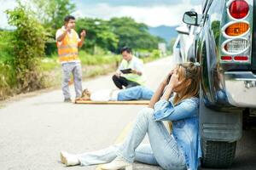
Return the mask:
<path id="1" fill-rule="evenodd" d="M 227 0 L 224 22 L 221 24 L 220 62 L 226 65 L 251 62 L 253 18 L 251 3 L 247 0 Z"/>

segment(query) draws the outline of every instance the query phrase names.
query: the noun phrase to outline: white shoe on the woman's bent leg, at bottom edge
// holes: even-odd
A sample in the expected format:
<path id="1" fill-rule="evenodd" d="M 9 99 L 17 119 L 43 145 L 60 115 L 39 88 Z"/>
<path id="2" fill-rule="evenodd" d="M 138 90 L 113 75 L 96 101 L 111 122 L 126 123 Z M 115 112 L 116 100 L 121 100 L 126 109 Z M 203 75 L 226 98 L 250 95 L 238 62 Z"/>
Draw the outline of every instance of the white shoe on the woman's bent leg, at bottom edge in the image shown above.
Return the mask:
<path id="1" fill-rule="evenodd" d="M 102 169 L 105 169 L 105 170 L 118 170 L 118 169 L 132 170 L 132 163 L 125 161 L 120 156 L 117 156 L 110 163 L 102 165 Z"/>

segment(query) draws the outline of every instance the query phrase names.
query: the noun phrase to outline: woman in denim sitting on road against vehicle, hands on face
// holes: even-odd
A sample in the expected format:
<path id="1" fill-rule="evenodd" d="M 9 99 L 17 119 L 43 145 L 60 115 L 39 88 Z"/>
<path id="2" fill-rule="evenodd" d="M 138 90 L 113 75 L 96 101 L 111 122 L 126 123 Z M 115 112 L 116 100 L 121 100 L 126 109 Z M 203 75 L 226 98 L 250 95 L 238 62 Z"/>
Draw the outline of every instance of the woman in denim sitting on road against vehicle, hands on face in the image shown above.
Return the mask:
<path id="1" fill-rule="evenodd" d="M 106 163 L 102 169 L 127 170 L 132 169 L 133 161 L 139 161 L 160 165 L 164 169 L 197 169 L 201 157 L 198 122 L 200 72 L 199 64 L 177 65 L 160 82 L 148 108 L 139 111 L 123 144 L 80 155 L 61 151 L 61 162 L 67 166 Z M 171 134 L 162 121 L 172 122 Z M 147 133 L 150 144 L 141 144 Z"/>

